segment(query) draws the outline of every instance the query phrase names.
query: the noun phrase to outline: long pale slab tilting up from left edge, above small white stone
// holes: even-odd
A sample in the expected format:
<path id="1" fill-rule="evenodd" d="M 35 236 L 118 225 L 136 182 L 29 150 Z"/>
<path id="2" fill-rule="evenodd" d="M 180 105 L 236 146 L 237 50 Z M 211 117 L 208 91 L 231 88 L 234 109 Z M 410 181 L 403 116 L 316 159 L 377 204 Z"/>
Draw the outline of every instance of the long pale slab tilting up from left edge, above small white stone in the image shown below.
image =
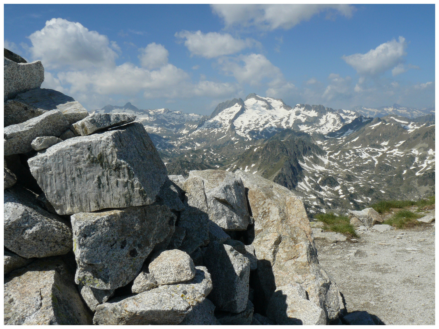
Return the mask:
<path id="1" fill-rule="evenodd" d="M 18 125 L 4 129 L 4 155 L 32 151 L 32 140 L 40 136 L 60 136 L 68 121 L 58 110 L 48 111 Z"/>

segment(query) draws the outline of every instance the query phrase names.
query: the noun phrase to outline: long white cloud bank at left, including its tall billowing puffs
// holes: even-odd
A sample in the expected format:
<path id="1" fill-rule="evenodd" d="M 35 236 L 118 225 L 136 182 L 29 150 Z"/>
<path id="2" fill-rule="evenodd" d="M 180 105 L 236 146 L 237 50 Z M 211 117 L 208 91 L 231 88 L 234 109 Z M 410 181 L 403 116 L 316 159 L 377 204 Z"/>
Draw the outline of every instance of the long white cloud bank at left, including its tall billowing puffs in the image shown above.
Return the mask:
<path id="1" fill-rule="evenodd" d="M 47 21 L 29 39 L 30 53 L 46 68 L 43 87 L 71 95 L 89 108 L 115 98 L 229 97 L 239 89 L 236 83 L 192 82 L 187 72 L 168 63 L 168 50 L 157 43 L 140 48 L 140 66 L 116 65 L 116 43 L 61 18 Z"/>

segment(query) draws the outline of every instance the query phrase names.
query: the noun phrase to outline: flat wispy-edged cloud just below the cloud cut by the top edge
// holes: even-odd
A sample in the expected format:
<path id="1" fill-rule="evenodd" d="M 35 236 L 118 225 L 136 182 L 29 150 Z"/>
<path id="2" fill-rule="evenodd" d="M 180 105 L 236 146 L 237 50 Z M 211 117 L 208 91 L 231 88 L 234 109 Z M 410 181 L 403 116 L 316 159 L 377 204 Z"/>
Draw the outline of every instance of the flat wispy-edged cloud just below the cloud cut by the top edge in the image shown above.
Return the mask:
<path id="1" fill-rule="evenodd" d="M 245 40 L 235 39 L 228 33 L 181 31 L 176 33 L 175 36 L 186 39 L 184 45 L 191 52 L 191 55 L 205 58 L 234 54 L 258 44 L 255 40 L 249 38 Z"/>

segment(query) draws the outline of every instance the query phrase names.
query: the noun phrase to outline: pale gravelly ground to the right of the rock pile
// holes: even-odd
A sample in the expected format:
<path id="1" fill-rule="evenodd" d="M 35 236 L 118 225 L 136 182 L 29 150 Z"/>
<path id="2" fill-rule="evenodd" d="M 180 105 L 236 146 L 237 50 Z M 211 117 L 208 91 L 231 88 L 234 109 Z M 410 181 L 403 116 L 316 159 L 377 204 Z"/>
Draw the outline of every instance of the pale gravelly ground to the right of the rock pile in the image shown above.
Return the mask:
<path id="1" fill-rule="evenodd" d="M 369 229 L 358 240 L 315 240 L 319 262 L 334 277 L 346 310 L 367 311 L 386 325 L 434 325 L 435 224 Z"/>

